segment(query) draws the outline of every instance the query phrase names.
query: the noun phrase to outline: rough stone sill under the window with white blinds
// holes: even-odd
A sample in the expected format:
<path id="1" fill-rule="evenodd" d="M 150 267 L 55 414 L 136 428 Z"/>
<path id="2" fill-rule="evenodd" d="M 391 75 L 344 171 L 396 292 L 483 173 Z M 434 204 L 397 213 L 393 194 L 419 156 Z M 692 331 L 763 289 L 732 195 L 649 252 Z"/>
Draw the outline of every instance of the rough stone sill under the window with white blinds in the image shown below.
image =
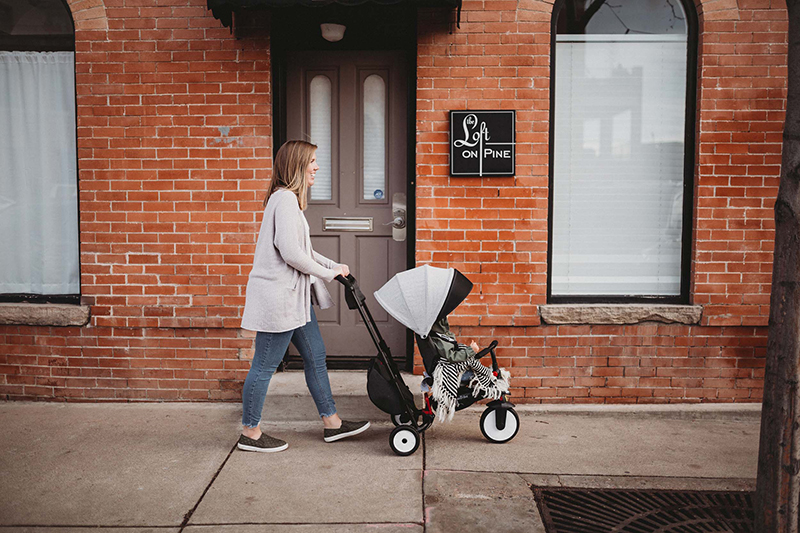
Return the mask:
<path id="1" fill-rule="evenodd" d="M 548 304 L 539 306 L 546 324 L 699 324 L 702 305 Z"/>

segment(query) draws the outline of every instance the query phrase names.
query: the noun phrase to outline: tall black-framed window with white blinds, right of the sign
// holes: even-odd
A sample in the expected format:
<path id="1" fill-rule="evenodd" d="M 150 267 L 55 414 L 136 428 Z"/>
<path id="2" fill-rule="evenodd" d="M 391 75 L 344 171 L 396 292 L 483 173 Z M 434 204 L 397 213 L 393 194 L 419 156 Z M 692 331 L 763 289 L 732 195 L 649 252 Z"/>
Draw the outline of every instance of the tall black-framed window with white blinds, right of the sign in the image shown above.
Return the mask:
<path id="1" fill-rule="evenodd" d="M 680 0 L 556 4 L 552 302 L 688 302 L 690 9 Z"/>

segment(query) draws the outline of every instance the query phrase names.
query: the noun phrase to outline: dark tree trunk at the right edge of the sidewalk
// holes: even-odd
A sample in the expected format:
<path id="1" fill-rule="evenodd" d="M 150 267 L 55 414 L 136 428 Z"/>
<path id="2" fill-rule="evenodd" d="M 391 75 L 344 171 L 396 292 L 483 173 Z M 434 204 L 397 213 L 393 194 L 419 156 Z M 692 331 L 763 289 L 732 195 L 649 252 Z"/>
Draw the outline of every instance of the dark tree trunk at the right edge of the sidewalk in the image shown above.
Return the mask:
<path id="1" fill-rule="evenodd" d="M 788 0 L 786 123 L 761 411 L 756 533 L 797 532 L 800 506 L 800 0 Z"/>

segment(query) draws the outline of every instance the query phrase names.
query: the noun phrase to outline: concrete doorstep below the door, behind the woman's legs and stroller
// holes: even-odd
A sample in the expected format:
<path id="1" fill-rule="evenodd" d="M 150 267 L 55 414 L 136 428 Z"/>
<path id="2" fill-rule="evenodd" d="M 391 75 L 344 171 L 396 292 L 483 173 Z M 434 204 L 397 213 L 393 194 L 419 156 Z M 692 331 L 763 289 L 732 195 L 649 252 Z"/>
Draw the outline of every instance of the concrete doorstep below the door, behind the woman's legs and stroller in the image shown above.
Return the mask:
<path id="1" fill-rule="evenodd" d="M 422 376 L 401 372 L 403 380 L 421 403 Z M 342 418 L 348 420 L 387 421 L 389 415 L 375 407 L 367 396 L 366 370 L 329 370 L 333 400 Z M 267 400 L 261 414 L 264 422 L 317 420 L 319 414 L 308 392 L 302 370 L 276 372 L 269 383 Z"/>

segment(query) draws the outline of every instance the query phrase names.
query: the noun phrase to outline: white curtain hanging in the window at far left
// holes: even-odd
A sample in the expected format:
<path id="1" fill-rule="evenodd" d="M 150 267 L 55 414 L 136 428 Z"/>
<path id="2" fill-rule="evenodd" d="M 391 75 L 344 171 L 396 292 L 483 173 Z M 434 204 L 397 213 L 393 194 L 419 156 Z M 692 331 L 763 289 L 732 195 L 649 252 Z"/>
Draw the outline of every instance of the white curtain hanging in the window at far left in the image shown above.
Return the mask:
<path id="1" fill-rule="evenodd" d="M 0 294 L 79 294 L 73 52 L 0 52 Z"/>

